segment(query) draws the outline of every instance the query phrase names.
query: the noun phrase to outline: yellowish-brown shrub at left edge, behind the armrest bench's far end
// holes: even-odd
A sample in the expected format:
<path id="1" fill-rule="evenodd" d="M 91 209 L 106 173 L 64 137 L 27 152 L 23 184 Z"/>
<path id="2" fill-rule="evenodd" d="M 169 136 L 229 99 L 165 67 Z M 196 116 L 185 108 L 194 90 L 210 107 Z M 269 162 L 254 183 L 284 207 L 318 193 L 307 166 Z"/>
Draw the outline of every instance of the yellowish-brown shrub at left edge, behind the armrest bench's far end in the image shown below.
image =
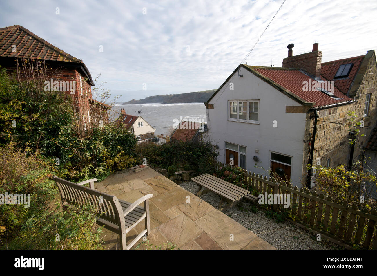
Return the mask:
<path id="1" fill-rule="evenodd" d="M 38 153 L 19 151 L 14 143 L 0 147 L 0 194 L 30 195 L 30 206 L 24 204 L 0 205 L 0 233 L 11 237 L 34 213 L 41 212 L 44 204 L 57 193 L 52 181 L 52 166 Z"/>

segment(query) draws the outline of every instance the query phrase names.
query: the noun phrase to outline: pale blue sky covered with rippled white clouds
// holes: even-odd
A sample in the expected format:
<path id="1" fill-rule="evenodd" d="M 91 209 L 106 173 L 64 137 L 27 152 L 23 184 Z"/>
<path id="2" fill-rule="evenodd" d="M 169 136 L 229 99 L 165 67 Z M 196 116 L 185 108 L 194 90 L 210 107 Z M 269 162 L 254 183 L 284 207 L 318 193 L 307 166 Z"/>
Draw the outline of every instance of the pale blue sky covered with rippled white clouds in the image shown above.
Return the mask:
<path id="1" fill-rule="evenodd" d="M 24 26 L 128 101 L 217 89 L 283 1 L 2 0 L 0 28 Z M 302 54 L 318 42 L 322 62 L 363 55 L 377 50 L 376 28 L 375 1 L 287 0 L 247 63 L 281 67 L 289 43 Z"/>

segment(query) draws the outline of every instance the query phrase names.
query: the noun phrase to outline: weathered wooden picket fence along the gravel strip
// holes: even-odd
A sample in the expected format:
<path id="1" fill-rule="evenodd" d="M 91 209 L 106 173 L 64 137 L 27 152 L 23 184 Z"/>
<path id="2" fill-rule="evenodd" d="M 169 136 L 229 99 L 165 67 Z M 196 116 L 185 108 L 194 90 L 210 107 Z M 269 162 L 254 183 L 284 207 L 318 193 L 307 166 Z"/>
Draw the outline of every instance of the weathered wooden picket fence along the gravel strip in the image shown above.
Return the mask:
<path id="1" fill-rule="evenodd" d="M 216 169 L 227 166 L 216 164 Z M 290 195 L 290 205 L 286 211 L 290 218 L 286 218 L 302 228 L 313 233 L 321 234 L 321 238 L 329 238 L 341 245 L 359 245 L 366 249 L 377 249 L 377 211 L 371 214 L 366 210 L 354 210 L 331 201 L 331 197 L 311 193 L 307 188 L 292 187 L 285 181 L 267 178 L 259 174 L 244 170 L 244 182 L 248 190 L 258 194 Z M 274 204 L 274 210 L 284 208 L 284 205 Z M 339 243 L 340 242 L 340 243 Z M 351 248 L 347 246 L 348 248 Z"/>

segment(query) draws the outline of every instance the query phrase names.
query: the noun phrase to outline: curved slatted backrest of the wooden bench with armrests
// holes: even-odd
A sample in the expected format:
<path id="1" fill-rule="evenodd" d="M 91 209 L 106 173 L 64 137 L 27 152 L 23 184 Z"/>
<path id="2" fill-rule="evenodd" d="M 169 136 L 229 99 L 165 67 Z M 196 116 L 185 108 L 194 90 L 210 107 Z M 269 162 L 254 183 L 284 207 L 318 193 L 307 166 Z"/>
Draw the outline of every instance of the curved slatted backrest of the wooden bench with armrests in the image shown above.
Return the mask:
<path id="1" fill-rule="evenodd" d="M 124 217 L 123 210 L 116 196 L 98 192 L 57 176 L 54 176 L 54 181 L 60 191 L 63 204 L 80 206 L 89 204 L 95 207 L 97 216 L 119 226 L 124 224 L 124 219 L 120 219 Z"/>

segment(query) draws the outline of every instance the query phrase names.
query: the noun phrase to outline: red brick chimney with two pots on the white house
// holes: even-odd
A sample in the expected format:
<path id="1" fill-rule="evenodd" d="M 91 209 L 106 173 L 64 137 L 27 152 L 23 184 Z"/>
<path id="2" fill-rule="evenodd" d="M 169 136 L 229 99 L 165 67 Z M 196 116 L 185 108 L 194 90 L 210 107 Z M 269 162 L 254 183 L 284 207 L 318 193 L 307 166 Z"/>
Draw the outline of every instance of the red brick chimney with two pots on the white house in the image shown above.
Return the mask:
<path id="1" fill-rule="evenodd" d="M 309 53 L 293 54 L 293 44 L 288 45 L 288 57 L 283 60 L 283 67 L 302 69 L 317 78 L 321 74 L 322 52 L 318 51 L 318 43 L 313 44 L 313 50 Z"/>

